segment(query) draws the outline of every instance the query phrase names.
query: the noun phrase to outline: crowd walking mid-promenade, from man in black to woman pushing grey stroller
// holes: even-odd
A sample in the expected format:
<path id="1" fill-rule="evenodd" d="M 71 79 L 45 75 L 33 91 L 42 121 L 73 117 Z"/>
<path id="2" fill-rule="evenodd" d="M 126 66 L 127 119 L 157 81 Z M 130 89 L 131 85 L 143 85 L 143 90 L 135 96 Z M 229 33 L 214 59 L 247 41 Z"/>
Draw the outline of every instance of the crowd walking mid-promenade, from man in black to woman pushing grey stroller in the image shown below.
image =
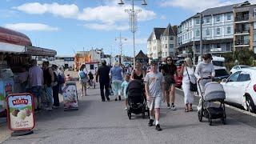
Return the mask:
<path id="1" fill-rule="evenodd" d="M 193 111 L 192 104 L 194 102 L 194 93 L 190 86 L 201 86 L 201 90 L 198 90 L 198 94 L 202 97 L 204 92 L 204 86 L 211 79 L 214 78 L 214 66 L 211 62 L 211 54 L 204 54 L 202 56 L 202 62 L 198 63 L 195 67 L 192 64 L 190 58 L 185 58 L 182 64 L 181 70 L 177 70 L 177 66 L 174 65 L 174 60 L 171 57 L 165 58 L 161 66 L 158 66 L 158 62 L 152 61 L 150 68 L 142 70 L 142 63 L 136 62 L 135 69 L 127 70 L 124 72 L 122 66 L 118 62 L 114 63 L 114 66 L 106 66 L 106 61 L 102 61 L 102 66 L 98 68 L 96 73 L 96 82 L 100 83 L 102 102 L 110 101 L 110 89 L 114 92 L 114 100 L 121 100 L 121 95 L 125 98 L 125 110 L 127 110 L 128 101 L 126 88 L 129 82 L 134 79 L 143 80 L 145 83 L 145 93 L 147 105 L 150 110 L 150 122 L 149 126 L 153 126 L 154 118 L 156 119 L 156 130 L 162 130 L 159 124 L 160 119 L 160 106 L 162 102 L 166 102 L 167 109 L 176 110 L 175 103 L 175 82 L 177 81 L 177 74 L 182 75 L 182 90 L 184 92 L 184 105 L 185 112 Z M 201 80 L 201 81 L 199 81 Z M 105 90 L 105 91 L 104 91 Z M 198 104 L 198 110 L 202 109 L 202 104 Z"/>

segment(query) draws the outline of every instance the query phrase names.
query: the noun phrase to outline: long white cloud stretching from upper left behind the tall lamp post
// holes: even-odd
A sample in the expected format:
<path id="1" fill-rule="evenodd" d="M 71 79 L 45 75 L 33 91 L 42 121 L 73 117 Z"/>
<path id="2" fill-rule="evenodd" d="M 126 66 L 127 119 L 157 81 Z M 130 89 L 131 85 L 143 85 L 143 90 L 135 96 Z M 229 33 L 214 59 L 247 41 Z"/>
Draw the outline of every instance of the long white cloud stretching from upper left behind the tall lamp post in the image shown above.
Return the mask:
<path id="1" fill-rule="evenodd" d="M 23 11 L 27 14 L 54 14 L 63 18 L 76 18 L 83 21 L 99 21 L 103 23 L 123 22 L 129 20 L 129 15 L 125 12 L 130 10 L 131 6 L 118 6 L 116 0 L 106 1 L 106 6 L 86 7 L 79 11 L 78 6 L 60 5 L 56 2 L 52 4 L 41 4 L 38 2 L 25 3 L 21 6 L 13 7 L 15 10 Z M 138 14 L 139 21 L 147 21 L 156 18 L 154 11 L 145 10 L 140 6 L 134 6 L 135 9 L 140 9 L 142 12 Z"/>

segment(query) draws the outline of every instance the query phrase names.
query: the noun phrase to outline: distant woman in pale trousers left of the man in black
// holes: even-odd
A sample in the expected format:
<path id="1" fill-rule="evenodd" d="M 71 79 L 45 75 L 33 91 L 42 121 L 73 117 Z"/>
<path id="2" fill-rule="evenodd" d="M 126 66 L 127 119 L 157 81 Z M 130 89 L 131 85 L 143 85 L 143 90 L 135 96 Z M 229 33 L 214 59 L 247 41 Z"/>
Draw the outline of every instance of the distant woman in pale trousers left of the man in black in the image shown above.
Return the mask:
<path id="1" fill-rule="evenodd" d="M 78 72 L 79 75 L 79 82 L 81 84 L 81 90 L 82 90 L 82 97 L 86 96 L 86 83 L 88 82 L 88 77 L 87 77 L 87 70 L 86 70 L 86 65 L 82 64 L 80 67 L 80 70 Z"/>

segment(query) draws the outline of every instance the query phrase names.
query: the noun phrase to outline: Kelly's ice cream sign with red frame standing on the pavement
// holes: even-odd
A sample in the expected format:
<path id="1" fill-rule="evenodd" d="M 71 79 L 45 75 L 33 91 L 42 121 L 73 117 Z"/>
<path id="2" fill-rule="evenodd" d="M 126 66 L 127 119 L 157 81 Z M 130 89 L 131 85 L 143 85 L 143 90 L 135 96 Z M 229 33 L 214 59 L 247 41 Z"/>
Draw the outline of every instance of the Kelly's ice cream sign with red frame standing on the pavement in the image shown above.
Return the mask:
<path id="1" fill-rule="evenodd" d="M 31 94 L 10 94 L 7 97 L 7 110 L 10 130 L 34 128 L 34 97 Z"/>

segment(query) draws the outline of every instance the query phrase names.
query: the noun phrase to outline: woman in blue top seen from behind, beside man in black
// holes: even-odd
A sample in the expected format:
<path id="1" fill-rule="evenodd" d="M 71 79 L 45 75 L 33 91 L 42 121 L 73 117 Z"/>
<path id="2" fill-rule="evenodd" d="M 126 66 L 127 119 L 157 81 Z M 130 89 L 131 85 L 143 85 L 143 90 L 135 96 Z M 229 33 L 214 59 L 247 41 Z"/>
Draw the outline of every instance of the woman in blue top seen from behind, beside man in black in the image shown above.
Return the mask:
<path id="1" fill-rule="evenodd" d="M 114 63 L 114 66 L 110 69 L 110 78 L 112 80 L 112 90 L 116 96 L 115 101 L 121 101 L 122 94 L 122 69 L 118 62 Z"/>

